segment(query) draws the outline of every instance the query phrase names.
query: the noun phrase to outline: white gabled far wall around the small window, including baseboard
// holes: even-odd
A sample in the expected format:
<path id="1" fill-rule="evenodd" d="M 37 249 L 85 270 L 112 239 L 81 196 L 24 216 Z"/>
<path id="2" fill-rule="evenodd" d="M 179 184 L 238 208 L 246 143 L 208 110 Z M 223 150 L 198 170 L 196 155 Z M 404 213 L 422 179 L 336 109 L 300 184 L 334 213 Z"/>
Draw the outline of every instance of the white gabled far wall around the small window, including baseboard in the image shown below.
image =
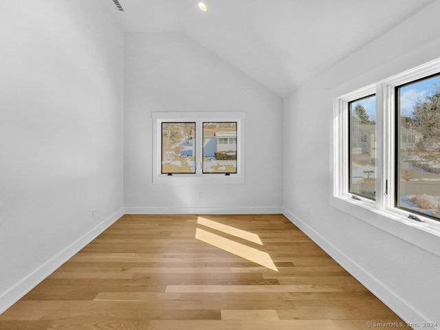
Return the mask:
<path id="1" fill-rule="evenodd" d="M 281 211 L 280 97 L 173 32 L 125 34 L 124 81 L 126 212 Z M 245 111 L 245 184 L 152 184 L 152 111 Z"/>

